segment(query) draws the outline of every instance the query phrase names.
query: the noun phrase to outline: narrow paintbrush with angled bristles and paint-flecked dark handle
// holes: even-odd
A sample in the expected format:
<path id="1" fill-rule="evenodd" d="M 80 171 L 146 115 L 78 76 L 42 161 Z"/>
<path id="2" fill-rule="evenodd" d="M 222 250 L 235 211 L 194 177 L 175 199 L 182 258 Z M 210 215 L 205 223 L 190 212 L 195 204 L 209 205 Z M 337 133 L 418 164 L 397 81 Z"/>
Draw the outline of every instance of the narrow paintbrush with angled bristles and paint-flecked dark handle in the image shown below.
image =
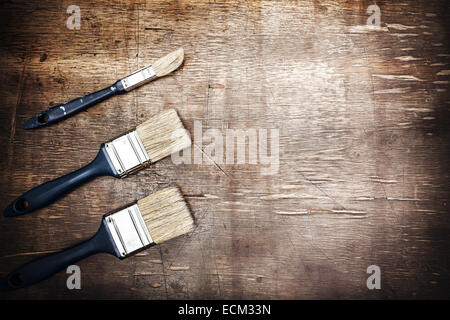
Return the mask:
<path id="1" fill-rule="evenodd" d="M 57 105 L 47 111 L 35 115 L 23 124 L 23 128 L 34 129 L 64 120 L 75 113 L 80 112 L 81 110 L 84 110 L 109 97 L 116 94 L 126 93 L 149 81 L 161 78 L 171 73 L 181 65 L 183 59 L 183 48 L 179 48 L 178 50 L 160 58 L 152 65 L 140 69 L 129 76 L 116 81 L 113 85 L 103 90 L 88 94 L 84 97 L 73 99 L 69 102 Z"/>

